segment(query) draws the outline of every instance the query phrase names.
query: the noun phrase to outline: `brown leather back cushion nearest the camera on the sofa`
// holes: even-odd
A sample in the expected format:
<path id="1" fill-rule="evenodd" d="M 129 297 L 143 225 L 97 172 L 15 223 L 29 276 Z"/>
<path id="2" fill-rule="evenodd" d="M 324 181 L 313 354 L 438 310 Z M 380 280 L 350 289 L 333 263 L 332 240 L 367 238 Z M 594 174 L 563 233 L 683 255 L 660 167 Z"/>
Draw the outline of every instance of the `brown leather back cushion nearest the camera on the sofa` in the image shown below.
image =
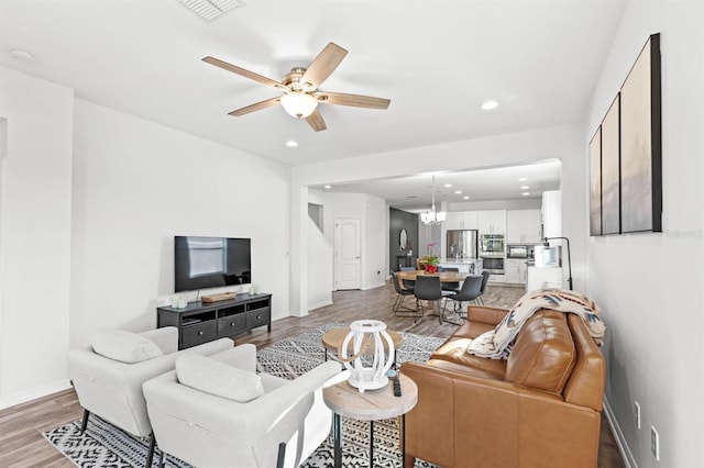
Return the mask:
<path id="1" fill-rule="evenodd" d="M 561 394 L 576 358 L 565 314 L 542 309 L 516 336 L 506 381 Z"/>

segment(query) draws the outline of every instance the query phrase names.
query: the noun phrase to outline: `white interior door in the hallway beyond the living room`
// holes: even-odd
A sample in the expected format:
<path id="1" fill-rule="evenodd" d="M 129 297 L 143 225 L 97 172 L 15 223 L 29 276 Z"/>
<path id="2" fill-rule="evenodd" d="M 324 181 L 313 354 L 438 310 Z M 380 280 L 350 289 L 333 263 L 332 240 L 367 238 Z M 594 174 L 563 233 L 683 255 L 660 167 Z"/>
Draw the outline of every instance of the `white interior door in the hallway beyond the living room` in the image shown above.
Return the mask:
<path id="1" fill-rule="evenodd" d="M 334 289 L 360 289 L 361 221 L 359 218 L 338 218 L 334 221 Z"/>

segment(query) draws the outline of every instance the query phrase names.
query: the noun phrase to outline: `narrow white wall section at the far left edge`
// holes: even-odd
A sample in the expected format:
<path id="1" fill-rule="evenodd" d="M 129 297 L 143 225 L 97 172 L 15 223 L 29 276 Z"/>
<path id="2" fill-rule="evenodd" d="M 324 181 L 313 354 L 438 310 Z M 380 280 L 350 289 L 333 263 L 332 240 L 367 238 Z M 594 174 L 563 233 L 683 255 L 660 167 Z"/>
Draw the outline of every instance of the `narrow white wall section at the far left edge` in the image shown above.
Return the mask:
<path id="1" fill-rule="evenodd" d="M 73 105 L 0 67 L 0 408 L 68 383 Z"/>

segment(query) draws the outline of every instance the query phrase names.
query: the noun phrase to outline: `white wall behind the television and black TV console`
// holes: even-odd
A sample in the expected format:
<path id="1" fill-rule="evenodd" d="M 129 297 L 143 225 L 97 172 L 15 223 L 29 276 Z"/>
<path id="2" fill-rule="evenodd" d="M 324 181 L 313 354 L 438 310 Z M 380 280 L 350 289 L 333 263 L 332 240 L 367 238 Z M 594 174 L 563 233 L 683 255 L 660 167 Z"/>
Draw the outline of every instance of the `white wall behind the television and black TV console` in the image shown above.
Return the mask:
<path id="1" fill-rule="evenodd" d="M 288 171 L 77 100 L 72 346 L 102 327 L 156 326 L 174 291 L 174 235 L 251 237 L 253 281 L 287 316 Z"/>

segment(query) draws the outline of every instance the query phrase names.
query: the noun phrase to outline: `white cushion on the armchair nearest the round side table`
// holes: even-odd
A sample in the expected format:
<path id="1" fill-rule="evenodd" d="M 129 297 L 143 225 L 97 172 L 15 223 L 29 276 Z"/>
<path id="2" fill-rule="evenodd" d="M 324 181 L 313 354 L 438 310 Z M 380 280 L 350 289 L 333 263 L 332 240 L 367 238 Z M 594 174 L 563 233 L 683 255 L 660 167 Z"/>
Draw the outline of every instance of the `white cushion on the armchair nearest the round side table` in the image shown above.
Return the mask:
<path id="1" fill-rule="evenodd" d="M 176 360 L 176 377 L 187 387 L 240 403 L 264 394 L 256 374 L 197 354 L 186 353 Z"/>

